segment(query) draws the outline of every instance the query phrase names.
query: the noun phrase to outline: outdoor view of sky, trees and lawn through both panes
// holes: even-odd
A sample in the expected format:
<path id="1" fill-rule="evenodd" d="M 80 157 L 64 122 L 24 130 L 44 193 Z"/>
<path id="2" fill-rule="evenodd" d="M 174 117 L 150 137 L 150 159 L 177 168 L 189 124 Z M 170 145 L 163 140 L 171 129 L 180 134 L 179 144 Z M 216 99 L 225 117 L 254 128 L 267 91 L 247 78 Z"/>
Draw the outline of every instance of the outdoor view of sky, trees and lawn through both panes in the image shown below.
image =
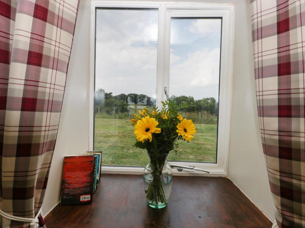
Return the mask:
<path id="1" fill-rule="evenodd" d="M 94 150 L 104 165 L 145 166 L 129 119 L 156 104 L 157 9 L 96 9 Z M 221 19 L 172 18 L 170 99 L 197 133 L 168 160 L 216 162 Z M 166 76 L 165 76 L 166 77 Z"/>

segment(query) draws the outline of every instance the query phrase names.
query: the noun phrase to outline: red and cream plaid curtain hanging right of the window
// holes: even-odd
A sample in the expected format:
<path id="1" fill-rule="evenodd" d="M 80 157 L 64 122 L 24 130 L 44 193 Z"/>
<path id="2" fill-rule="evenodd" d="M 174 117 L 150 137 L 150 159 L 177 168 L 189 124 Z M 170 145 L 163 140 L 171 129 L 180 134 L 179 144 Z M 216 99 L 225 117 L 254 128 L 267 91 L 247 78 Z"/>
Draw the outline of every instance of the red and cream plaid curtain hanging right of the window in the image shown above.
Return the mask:
<path id="1" fill-rule="evenodd" d="M 305 1 L 250 0 L 257 110 L 276 222 L 305 227 Z"/>

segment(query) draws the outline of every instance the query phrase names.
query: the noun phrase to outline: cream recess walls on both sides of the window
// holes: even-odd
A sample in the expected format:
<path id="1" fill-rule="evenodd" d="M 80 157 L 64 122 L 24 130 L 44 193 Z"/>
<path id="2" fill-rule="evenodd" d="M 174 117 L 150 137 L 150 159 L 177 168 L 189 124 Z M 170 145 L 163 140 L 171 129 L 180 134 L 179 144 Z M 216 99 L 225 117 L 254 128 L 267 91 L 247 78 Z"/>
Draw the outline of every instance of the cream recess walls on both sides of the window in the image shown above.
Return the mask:
<path id="1" fill-rule="evenodd" d="M 256 109 L 249 1 L 209 2 L 236 3 L 229 178 L 272 220 L 273 202 Z M 59 202 L 63 157 L 88 150 L 90 12 L 90 0 L 81 0 L 44 213 Z"/>

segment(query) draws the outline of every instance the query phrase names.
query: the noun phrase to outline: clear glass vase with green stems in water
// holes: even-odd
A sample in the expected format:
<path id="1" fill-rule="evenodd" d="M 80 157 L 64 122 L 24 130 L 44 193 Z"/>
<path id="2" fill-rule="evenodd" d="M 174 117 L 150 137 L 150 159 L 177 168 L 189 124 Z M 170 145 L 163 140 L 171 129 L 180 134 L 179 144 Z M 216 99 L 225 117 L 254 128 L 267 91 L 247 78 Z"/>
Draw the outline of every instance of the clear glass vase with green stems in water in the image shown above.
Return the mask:
<path id="1" fill-rule="evenodd" d="M 160 209 L 167 205 L 173 179 L 173 172 L 167 165 L 169 153 L 147 154 L 149 163 L 143 171 L 145 195 L 150 207 Z"/>

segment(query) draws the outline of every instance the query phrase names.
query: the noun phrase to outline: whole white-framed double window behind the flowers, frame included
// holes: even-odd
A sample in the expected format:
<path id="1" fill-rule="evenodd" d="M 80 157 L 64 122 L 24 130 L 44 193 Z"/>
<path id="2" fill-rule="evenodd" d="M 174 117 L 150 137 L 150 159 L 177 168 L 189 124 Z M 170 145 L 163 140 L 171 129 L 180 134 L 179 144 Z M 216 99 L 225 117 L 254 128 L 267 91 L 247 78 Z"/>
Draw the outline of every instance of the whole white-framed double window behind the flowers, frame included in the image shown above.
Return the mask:
<path id="1" fill-rule="evenodd" d="M 226 174 L 232 15 L 232 5 L 92 3 L 89 149 L 103 151 L 104 171 L 137 173 L 148 163 L 132 147 L 128 119 L 160 107 L 167 87 L 170 99 L 189 104 L 182 115 L 197 129 L 169 163 Z"/>

